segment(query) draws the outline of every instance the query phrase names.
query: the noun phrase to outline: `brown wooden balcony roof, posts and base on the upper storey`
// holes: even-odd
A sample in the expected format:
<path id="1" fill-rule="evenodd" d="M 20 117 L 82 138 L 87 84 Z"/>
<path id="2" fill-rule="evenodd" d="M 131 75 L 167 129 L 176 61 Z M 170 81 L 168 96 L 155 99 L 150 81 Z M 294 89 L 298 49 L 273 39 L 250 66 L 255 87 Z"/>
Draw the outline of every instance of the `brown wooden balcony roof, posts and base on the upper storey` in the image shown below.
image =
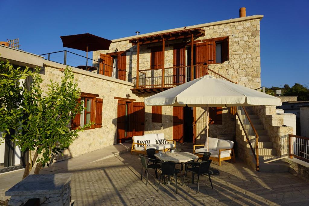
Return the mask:
<path id="1" fill-rule="evenodd" d="M 134 39 L 130 39 L 129 42 L 132 43 L 132 45 L 137 45 L 137 64 L 136 64 L 136 88 L 132 89 L 134 92 L 161 92 L 166 89 L 167 87 L 164 86 L 164 52 L 165 52 L 165 41 L 170 40 L 179 40 L 179 39 L 190 39 L 191 41 L 191 68 L 193 68 L 193 44 L 194 39 L 205 36 L 205 30 L 201 28 L 195 28 L 195 29 L 184 29 L 180 31 L 174 31 L 174 32 L 166 32 L 166 33 L 160 33 L 160 34 L 154 34 L 149 36 L 137 36 Z M 139 53 L 140 53 L 140 45 L 141 44 L 151 44 L 151 43 L 157 43 L 162 42 L 162 86 L 160 88 L 139 88 Z M 191 80 L 193 80 L 193 69 L 191 69 Z"/>

